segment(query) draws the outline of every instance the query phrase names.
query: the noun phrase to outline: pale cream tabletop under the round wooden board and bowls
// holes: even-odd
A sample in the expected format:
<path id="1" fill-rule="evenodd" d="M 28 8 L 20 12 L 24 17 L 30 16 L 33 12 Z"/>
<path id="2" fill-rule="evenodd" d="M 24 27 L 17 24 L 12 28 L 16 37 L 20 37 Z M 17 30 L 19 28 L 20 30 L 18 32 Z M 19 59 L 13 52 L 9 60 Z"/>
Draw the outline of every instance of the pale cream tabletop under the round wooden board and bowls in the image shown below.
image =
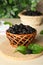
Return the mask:
<path id="1" fill-rule="evenodd" d="M 5 21 L 10 21 L 12 23 L 20 23 L 21 21 L 19 19 L 1 19 L 1 20 L 5 20 Z M 37 31 L 40 29 L 43 29 L 43 25 L 36 27 Z M 39 31 L 40 31 L 39 30 Z M 4 38 L 0 38 L 0 43 L 2 43 L 4 41 Z M 7 58 L 5 56 L 2 56 L 0 54 L 0 65 L 43 65 L 43 55 L 29 60 L 29 61 L 16 61 L 10 58 Z"/>

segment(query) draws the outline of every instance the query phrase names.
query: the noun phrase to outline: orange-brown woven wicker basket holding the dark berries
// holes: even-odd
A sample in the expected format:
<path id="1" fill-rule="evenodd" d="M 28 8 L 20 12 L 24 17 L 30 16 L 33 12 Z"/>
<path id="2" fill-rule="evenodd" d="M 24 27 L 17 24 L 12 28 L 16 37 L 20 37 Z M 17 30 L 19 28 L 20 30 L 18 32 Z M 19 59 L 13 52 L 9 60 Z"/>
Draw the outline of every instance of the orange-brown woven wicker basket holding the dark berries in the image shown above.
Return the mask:
<path id="1" fill-rule="evenodd" d="M 12 34 L 6 31 L 6 35 L 12 46 L 28 46 L 35 39 L 36 31 L 32 34 Z"/>

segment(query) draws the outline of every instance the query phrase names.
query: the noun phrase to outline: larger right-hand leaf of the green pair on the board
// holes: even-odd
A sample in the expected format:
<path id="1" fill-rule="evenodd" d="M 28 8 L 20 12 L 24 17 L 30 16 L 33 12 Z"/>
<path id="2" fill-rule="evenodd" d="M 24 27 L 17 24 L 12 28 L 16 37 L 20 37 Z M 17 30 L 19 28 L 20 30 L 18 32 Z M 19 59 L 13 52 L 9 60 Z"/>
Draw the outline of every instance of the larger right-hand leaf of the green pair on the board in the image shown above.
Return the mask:
<path id="1" fill-rule="evenodd" d="M 42 52 L 43 51 L 43 46 L 40 46 L 40 45 L 38 45 L 38 44 L 30 44 L 29 46 L 28 46 L 28 49 L 30 49 L 30 50 L 32 50 L 32 53 L 33 54 L 37 54 L 37 53 L 40 53 L 40 52 Z"/>

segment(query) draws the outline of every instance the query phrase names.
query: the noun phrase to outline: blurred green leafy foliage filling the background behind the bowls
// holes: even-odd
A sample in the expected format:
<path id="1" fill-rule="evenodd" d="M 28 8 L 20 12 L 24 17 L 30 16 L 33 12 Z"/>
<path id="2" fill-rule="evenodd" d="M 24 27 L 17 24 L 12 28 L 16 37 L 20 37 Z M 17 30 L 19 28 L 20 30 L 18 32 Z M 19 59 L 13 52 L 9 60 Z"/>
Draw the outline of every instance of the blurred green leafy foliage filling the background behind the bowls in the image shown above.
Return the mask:
<path id="1" fill-rule="evenodd" d="M 0 18 L 17 18 L 22 10 L 36 11 L 40 0 L 0 0 Z"/>

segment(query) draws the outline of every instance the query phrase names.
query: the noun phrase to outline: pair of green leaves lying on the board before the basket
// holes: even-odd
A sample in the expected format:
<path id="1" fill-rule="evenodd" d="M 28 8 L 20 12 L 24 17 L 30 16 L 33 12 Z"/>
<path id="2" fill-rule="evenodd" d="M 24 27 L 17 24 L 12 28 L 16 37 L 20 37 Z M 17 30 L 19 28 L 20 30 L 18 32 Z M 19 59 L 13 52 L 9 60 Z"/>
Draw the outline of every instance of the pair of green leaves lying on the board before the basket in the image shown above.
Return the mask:
<path id="1" fill-rule="evenodd" d="M 27 51 L 29 51 L 29 54 L 30 54 L 31 51 L 32 51 L 31 52 L 32 54 L 38 54 L 38 53 L 41 53 L 43 51 L 43 46 L 32 43 L 28 47 L 18 46 L 16 48 L 16 51 L 19 51 L 22 54 L 27 54 Z"/>

